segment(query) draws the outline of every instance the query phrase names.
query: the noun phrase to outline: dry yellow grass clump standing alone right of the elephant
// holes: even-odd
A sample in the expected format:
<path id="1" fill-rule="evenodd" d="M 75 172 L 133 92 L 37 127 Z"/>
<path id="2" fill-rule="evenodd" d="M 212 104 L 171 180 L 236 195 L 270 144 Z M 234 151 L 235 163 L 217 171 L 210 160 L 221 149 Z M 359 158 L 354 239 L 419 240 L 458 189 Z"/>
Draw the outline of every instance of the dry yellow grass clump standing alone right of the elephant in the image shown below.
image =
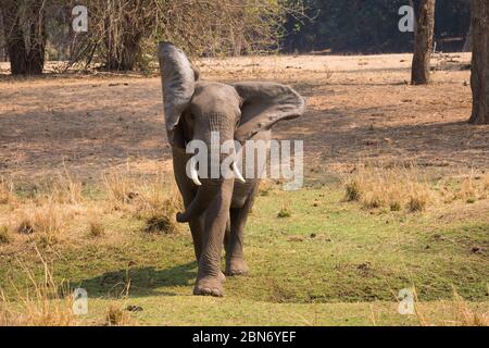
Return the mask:
<path id="1" fill-rule="evenodd" d="M 347 201 L 359 201 L 365 209 L 388 208 L 423 211 L 431 200 L 426 181 L 415 166 L 369 167 L 358 165 L 343 179 Z"/>

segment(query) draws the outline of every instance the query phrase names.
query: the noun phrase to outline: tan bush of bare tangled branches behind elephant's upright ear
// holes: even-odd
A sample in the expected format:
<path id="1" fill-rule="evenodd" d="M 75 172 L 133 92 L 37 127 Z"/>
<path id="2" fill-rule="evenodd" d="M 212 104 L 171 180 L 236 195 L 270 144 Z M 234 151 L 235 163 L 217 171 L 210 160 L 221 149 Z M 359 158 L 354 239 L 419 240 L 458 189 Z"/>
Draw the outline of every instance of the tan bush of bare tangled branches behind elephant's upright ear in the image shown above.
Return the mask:
<path id="1" fill-rule="evenodd" d="M 277 47 L 281 20 L 297 9 L 276 0 L 91 0 L 90 45 L 110 70 L 133 70 L 145 47 L 172 41 L 190 54 L 241 54 Z"/>

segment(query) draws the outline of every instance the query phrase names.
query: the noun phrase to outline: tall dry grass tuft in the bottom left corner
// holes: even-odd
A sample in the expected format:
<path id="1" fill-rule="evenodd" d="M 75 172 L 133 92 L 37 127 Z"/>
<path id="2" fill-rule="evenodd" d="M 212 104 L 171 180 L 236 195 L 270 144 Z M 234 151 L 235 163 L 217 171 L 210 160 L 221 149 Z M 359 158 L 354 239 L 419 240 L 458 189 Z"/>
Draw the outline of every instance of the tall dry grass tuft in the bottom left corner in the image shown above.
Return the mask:
<path id="1" fill-rule="evenodd" d="M 57 284 L 48 263 L 36 248 L 42 262 L 43 278 L 37 279 L 30 270 L 24 268 L 32 283 L 25 294 L 17 290 L 14 302 L 0 293 L 0 326 L 72 326 L 76 325 L 73 313 L 73 298 L 65 283 Z"/>

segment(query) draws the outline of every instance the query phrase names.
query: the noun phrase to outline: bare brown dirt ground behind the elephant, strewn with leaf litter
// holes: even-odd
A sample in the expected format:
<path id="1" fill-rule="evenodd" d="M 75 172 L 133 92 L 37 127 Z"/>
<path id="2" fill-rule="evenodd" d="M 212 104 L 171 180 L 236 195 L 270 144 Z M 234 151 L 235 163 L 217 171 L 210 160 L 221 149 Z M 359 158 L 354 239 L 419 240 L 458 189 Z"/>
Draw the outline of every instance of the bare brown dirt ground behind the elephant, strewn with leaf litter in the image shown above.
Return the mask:
<path id="1" fill-rule="evenodd" d="M 349 170 L 359 160 L 489 167 L 489 126 L 472 109 L 469 54 L 440 54 L 429 86 L 411 86 L 410 54 L 298 55 L 203 60 L 202 77 L 286 83 L 308 113 L 275 128 L 304 140 L 305 173 Z M 4 71 L 2 65 L 0 71 Z M 47 177 L 66 167 L 84 179 L 130 164 L 171 166 L 158 75 L 0 75 L 0 175 Z"/>

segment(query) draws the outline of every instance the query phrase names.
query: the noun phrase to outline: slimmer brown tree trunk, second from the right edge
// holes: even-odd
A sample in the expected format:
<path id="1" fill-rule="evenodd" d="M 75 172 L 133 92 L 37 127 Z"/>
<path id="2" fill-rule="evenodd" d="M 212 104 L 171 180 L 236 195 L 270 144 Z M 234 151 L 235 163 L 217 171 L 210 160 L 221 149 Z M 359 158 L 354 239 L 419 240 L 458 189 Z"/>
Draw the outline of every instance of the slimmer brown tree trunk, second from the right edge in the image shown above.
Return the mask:
<path id="1" fill-rule="evenodd" d="M 411 83 L 413 85 L 425 85 L 429 83 L 429 63 L 435 32 L 435 0 L 417 0 L 414 3 L 416 29 Z"/>

